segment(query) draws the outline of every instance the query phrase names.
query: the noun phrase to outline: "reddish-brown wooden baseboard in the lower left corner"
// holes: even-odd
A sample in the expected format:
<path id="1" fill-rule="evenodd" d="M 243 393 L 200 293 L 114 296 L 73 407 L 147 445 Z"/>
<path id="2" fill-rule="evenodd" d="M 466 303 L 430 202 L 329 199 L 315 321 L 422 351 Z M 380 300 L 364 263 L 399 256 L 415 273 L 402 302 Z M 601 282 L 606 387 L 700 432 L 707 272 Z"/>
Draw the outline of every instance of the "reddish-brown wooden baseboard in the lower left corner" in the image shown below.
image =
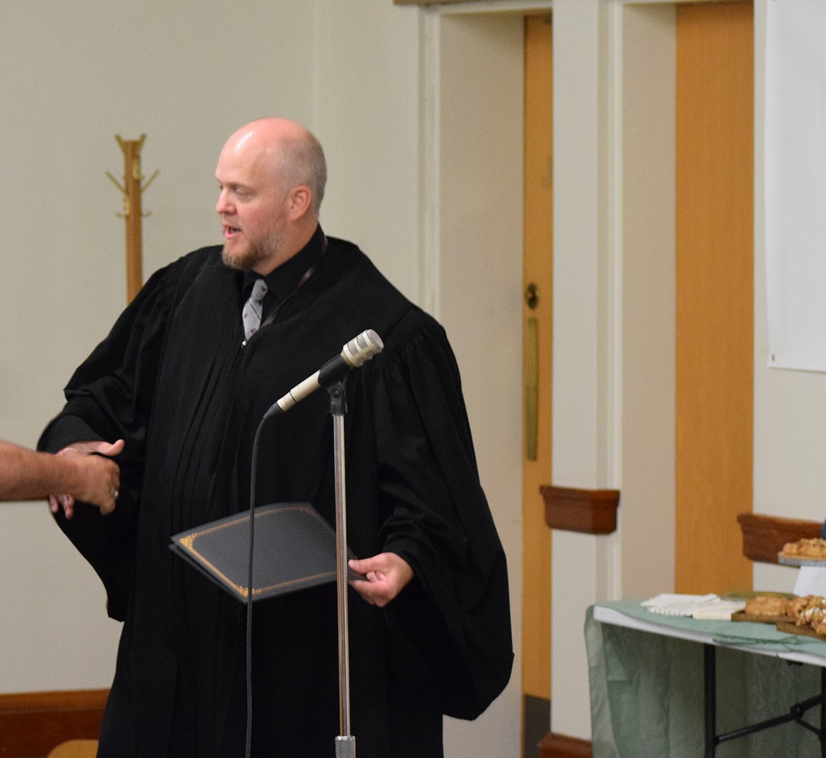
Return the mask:
<path id="1" fill-rule="evenodd" d="M 67 740 L 96 740 L 108 689 L 0 694 L 0 756 L 45 758 Z"/>

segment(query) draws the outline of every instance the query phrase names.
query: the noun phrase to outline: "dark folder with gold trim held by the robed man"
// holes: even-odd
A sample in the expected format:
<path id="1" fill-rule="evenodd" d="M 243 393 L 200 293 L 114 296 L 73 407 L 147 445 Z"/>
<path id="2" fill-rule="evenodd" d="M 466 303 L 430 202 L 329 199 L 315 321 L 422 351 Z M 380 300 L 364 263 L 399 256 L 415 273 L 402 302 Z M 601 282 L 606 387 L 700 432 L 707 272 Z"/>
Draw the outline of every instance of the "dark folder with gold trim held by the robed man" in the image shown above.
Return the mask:
<path id="1" fill-rule="evenodd" d="M 253 600 L 335 581 L 335 529 L 309 503 L 254 510 Z M 175 534 L 169 546 L 216 584 L 246 602 L 249 511 Z M 349 557 L 355 557 L 349 552 Z M 349 571 L 350 578 L 358 575 Z"/>

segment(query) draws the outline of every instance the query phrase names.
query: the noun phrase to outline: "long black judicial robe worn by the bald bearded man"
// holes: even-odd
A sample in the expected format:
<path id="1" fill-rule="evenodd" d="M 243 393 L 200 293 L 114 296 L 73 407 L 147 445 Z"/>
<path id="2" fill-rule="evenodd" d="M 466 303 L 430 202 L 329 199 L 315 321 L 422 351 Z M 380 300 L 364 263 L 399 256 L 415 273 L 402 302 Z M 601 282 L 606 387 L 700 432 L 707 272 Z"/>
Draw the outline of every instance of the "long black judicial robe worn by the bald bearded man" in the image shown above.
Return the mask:
<path id="1" fill-rule="evenodd" d="M 386 609 L 349 590 L 359 758 L 442 755 L 441 714 L 476 718 L 510 677 L 506 558 L 477 476 L 443 329 L 353 244 L 241 348 L 243 274 L 220 247 L 156 272 L 74 373 L 40 448 L 126 439 L 121 496 L 60 527 L 124 620 L 100 756 L 242 756 L 244 605 L 169 550 L 172 534 L 249 507 L 263 414 L 364 329 L 384 350 L 347 381 L 349 545 L 415 578 Z M 311 501 L 335 523 L 329 399 L 262 429 L 256 504 Z M 261 601 L 253 618 L 253 755 L 329 756 L 339 731 L 335 585 Z"/>

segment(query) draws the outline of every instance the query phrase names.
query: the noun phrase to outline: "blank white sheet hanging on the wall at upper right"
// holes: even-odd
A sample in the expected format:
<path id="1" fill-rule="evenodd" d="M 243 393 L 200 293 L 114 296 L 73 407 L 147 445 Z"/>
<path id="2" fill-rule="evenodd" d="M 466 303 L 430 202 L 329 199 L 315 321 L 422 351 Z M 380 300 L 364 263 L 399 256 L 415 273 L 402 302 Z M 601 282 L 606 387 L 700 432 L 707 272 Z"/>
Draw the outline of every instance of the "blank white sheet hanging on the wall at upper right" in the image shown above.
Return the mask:
<path id="1" fill-rule="evenodd" d="M 769 0 L 768 365 L 826 371 L 826 2 Z"/>

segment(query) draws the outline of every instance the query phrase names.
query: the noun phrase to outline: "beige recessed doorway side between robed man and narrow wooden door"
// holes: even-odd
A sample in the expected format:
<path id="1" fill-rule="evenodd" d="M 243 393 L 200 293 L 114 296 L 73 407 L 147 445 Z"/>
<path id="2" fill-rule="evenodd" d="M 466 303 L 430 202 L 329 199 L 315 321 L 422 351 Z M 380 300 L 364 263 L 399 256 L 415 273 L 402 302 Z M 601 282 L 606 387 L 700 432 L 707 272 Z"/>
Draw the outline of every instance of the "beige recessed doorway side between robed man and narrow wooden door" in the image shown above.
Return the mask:
<path id="1" fill-rule="evenodd" d="M 508 557 L 516 661 L 504 694 L 476 722 L 447 720 L 451 756 L 516 756 L 520 745 L 521 302 L 523 21 L 520 15 L 426 18 L 425 184 L 438 223 L 425 242 L 428 292 L 453 334 L 482 483 Z M 438 146 L 438 147 L 437 147 Z M 494 388 L 498 387 L 498 390 Z M 478 733 L 491 740 L 480 753 Z"/>

